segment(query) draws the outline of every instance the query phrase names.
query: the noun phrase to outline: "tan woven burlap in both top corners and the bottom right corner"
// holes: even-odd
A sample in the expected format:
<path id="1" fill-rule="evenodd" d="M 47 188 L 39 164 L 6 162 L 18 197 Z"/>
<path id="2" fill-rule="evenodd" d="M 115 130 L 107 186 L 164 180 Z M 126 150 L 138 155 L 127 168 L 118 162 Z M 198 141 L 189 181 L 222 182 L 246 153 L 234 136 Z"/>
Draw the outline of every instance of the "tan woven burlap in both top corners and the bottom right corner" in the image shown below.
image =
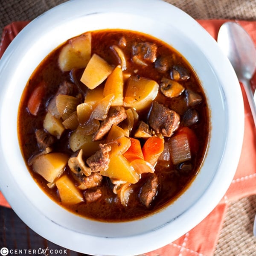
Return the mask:
<path id="1" fill-rule="evenodd" d="M 0 0 L 0 34 L 13 21 L 32 20 L 67 0 Z M 86 0 L 88 1 L 88 0 Z M 106 0 L 107 1 L 107 0 Z M 256 20 L 256 0 L 166 0 L 195 19 Z M 256 196 L 230 203 L 214 256 L 256 256 Z"/>

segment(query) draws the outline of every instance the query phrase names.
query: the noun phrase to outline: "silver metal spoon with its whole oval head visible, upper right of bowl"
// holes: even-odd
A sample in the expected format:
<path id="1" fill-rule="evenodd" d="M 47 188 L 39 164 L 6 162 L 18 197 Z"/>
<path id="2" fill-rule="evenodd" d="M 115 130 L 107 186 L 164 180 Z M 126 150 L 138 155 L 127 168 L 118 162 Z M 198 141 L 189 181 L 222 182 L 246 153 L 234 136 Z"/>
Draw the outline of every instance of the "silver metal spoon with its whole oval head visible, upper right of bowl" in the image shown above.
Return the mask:
<path id="1" fill-rule="evenodd" d="M 226 22 L 218 32 L 217 41 L 243 84 L 256 126 L 256 106 L 250 87 L 250 79 L 256 70 L 256 49 L 253 40 L 238 23 Z"/>

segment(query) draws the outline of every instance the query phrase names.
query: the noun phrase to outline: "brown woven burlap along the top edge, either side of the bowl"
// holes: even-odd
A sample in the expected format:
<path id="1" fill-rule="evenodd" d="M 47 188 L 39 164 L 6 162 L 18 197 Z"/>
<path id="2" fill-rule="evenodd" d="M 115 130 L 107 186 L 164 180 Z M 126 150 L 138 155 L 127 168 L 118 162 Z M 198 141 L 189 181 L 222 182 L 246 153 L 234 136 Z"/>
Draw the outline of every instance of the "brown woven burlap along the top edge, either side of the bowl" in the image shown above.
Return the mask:
<path id="1" fill-rule="evenodd" d="M 0 0 L 0 34 L 3 27 L 10 22 L 32 20 L 66 1 Z M 256 0 L 166 0 L 166 2 L 179 7 L 195 19 L 256 19 Z"/>

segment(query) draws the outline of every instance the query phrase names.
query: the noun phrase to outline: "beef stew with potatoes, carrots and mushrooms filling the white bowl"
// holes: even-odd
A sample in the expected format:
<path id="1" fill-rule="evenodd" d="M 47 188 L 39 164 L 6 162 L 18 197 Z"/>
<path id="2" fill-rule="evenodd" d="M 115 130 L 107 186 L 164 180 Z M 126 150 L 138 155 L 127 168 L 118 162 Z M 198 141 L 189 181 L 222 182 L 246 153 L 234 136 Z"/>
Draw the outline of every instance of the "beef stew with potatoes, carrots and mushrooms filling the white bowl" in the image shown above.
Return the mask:
<path id="1" fill-rule="evenodd" d="M 71 38 L 30 77 L 18 136 L 41 189 L 75 214 L 128 221 L 171 204 L 192 182 L 209 109 L 192 67 L 139 32 Z"/>

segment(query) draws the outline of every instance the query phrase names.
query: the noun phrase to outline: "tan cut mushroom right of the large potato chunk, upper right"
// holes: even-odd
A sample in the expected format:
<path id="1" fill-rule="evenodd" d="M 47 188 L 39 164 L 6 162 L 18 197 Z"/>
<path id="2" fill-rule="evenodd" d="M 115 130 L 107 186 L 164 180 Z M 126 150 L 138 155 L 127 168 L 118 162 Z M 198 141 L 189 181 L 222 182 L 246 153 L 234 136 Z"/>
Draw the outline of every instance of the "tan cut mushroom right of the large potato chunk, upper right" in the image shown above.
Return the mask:
<path id="1" fill-rule="evenodd" d="M 185 88 L 177 81 L 167 78 L 163 78 L 161 80 L 160 91 L 166 97 L 174 98 L 180 96 L 180 94 L 183 93 L 184 90 Z"/>

